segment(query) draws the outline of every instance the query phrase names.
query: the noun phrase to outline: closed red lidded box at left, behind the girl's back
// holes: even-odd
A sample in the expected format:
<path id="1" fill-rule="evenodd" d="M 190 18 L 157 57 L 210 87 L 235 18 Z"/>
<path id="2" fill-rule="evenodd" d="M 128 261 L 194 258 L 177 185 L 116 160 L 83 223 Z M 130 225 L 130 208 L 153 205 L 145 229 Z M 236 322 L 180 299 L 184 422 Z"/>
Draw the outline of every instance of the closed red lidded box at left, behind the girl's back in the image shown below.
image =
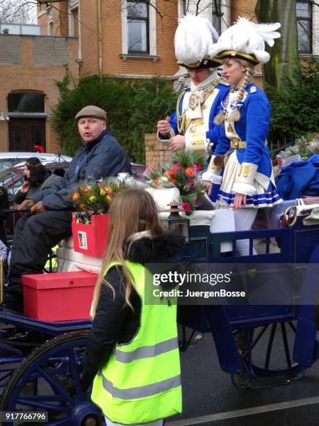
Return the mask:
<path id="1" fill-rule="evenodd" d="M 25 315 L 42 321 L 90 319 L 97 277 L 86 271 L 23 275 Z"/>

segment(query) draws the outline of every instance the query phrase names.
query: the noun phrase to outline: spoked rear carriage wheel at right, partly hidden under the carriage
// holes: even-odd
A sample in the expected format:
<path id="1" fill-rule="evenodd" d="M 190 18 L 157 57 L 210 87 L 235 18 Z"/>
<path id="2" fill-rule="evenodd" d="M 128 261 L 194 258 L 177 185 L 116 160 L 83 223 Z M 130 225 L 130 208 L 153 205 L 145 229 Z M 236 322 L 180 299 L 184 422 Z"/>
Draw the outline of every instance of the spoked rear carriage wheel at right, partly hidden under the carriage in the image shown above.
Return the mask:
<path id="1" fill-rule="evenodd" d="M 295 332 L 291 321 L 234 332 L 245 370 L 250 377 L 264 381 L 261 387 L 288 384 L 304 373 L 302 365 L 291 357 Z M 240 384 L 240 378 L 236 382 Z"/>

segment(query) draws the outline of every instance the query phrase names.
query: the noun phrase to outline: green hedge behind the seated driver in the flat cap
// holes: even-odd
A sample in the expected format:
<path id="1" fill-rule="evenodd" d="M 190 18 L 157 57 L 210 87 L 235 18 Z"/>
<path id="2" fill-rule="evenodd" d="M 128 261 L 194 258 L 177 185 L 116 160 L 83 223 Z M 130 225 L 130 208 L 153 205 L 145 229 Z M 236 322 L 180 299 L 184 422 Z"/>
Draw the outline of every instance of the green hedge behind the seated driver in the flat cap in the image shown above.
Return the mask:
<path id="1" fill-rule="evenodd" d="M 51 123 L 67 155 L 74 155 L 81 144 L 74 116 L 86 105 L 97 105 L 106 111 L 108 129 L 129 159 L 145 162 L 144 134 L 156 132 L 157 121 L 174 111 L 177 100 L 170 82 L 161 78 L 126 84 L 122 79 L 92 77 L 73 90 L 65 81 L 58 86 L 60 100 Z"/>

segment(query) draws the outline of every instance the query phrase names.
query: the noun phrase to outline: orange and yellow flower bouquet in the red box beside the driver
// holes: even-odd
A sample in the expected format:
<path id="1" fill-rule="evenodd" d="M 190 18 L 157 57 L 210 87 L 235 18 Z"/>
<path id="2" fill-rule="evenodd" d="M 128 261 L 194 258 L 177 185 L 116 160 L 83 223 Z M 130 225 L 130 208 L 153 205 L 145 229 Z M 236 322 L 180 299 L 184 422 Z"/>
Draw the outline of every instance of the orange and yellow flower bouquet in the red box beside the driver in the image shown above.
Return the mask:
<path id="1" fill-rule="evenodd" d="M 98 182 L 81 182 L 72 194 L 72 203 L 78 211 L 105 214 L 116 194 L 131 186 L 132 184 L 128 184 L 126 180 L 117 178 L 106 178 Z"/>

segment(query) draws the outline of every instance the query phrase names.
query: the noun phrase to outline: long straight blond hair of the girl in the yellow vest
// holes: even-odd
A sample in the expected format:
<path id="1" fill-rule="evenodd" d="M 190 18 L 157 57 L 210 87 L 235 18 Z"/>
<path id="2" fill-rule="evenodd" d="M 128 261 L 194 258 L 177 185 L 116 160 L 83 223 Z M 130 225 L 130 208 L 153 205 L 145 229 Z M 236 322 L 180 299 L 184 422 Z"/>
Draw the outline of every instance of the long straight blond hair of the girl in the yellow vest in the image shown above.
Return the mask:
<path id="1" fill-rule="evenodd" d="M 104 278 L 106 267 L 113 261 L 120 262 L 123 268 L 125 301 L 132 308 L 129 301 L 132 289 L 132 277 L 124 261 L 124 246 L 130 242 L 130 239 L 136 239 L 136 232 L 146 230 L 148 231 L 147 235 L 150 237 L 156 237 L 156 235 L 161 235 L 164 232 L 161 222 L 158 219 L 158 209 L 152 196 L 144 189 L 127 189 L 117 194 L 110 208 L 106 255 L 101 265 L 101 273 L 97 279 L 93 295 L 93 317 L 97 310 L 97 303 L 103 284 L 111 288 L 113 297 L 115 297 L 113 286 Z"/>

